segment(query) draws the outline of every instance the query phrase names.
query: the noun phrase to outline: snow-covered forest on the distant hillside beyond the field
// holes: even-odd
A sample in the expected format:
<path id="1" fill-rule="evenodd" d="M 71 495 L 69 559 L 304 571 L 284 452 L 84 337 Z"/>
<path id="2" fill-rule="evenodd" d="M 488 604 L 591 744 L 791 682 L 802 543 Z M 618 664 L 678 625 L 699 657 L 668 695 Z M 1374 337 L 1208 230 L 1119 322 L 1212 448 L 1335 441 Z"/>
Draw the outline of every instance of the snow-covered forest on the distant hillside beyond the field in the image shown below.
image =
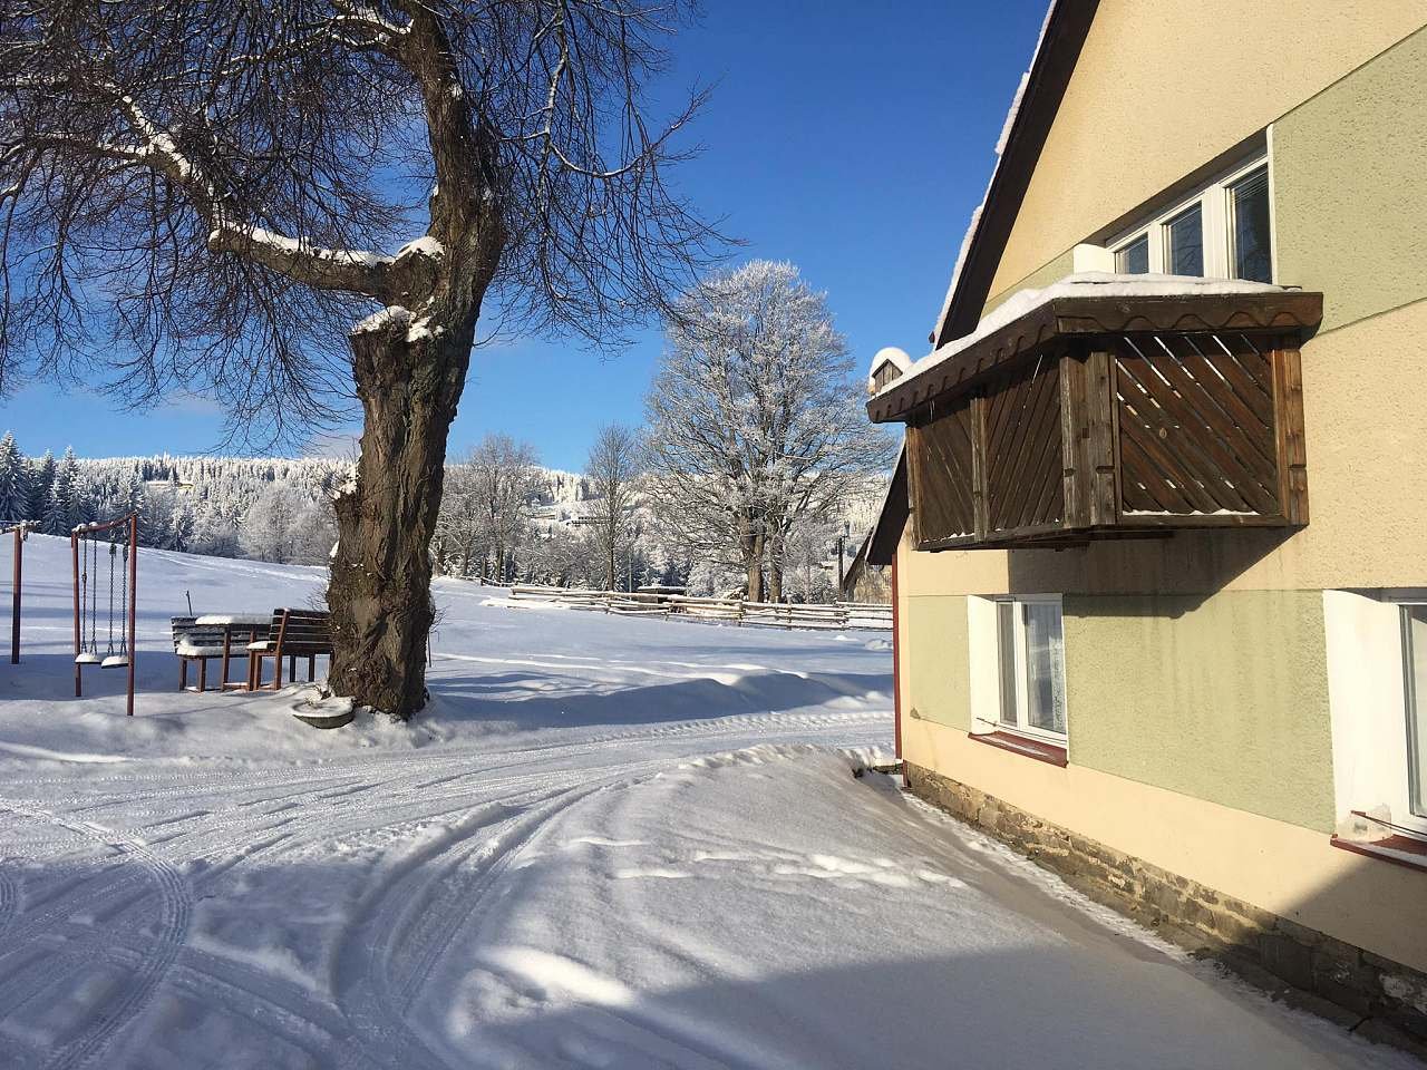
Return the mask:
<path id="1" fill-rule="evenodd" d="M 602 499 L 595 481 L 541 467 L 527 445 L 512 471 L 487 472 L 487 488 L 491 478 L 505 478 L 517 491 L 492 512 L 489 495 L 481 499 L 482 481 L 474 478 L 474 461 L 488 448 L 489 441 L 482 442 L 448 467 L 432 544 L 437 569 L 488 581 L 604 586 L 608 565 L 596 538 Z M 77 524 L 137 511 L 146 546 L 321 564 L 337 538 L 331 494 L 350 469 L 350 462 L 334 458 L 80 458 L 71 449 L 59 458 L 49 449 L 27 457 L 6 432 L 0 438 L 0 522 L 34 521 L 44 534 L 64 535 Z M 880 492 L 879 479 L 865 481 L 836 515 L 806 525 L 789 541 L 785 591 L 791 599 L 835 598 L 838 536 L 846 525 L 850 559 Z M 732 554 L 682 542 L 662 524 L 642 479 L 635 482 L 619 531 L 618 588 L 664 584 L 726 593 L 742 579 Z"/>

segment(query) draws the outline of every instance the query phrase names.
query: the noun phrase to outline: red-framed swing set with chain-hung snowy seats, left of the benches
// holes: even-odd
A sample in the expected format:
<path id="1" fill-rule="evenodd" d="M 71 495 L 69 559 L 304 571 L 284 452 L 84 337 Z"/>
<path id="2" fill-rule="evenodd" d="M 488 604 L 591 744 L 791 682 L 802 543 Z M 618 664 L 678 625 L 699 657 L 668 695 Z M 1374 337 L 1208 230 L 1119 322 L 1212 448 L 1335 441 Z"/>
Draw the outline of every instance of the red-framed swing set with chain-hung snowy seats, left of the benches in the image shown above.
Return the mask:
<path id="1" fill-rule="evenodd" d="M 108 556 L 107 635 L 98 629 L 101 615 L 100 585 L 103 555 Z M 120 558 L 123 556 L 123 561 Z M 70 532 L 70 559 L 74 566 L 74 698 L 83 698 L 86 665 L 101 669 L 128 669 L 128 716 L 134 716 L 134 609 L 138 593 L 138 514 L 131 512 L 103 524 L 81 524 Z M 114 601 L 114 575 L 118 574 L 118 602 Z M 116 605 L 120 619 L 118 643 L 114 642 Z"/>

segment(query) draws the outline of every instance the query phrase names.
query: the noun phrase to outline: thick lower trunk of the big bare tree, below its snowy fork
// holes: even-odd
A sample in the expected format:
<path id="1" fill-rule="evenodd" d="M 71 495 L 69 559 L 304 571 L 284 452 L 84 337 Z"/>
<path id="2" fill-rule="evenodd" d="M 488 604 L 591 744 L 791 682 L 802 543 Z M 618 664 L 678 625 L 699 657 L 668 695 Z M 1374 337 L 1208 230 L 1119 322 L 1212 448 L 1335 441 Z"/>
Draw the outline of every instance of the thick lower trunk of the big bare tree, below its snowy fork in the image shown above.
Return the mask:
<path id="1" fill-rule="evenodd" d="M 401 719 L 427 698 L 431 535 L 477 308 L 451 317 L 457 322 L 445 330 L 428 321 L 425 331 L 417 331 L 410 317 L 388 317 L 351 337 L 365 424 L 355 486 L 335 499 L 340 538 L 327 588 L 334 649 L 328 685 Z"/>

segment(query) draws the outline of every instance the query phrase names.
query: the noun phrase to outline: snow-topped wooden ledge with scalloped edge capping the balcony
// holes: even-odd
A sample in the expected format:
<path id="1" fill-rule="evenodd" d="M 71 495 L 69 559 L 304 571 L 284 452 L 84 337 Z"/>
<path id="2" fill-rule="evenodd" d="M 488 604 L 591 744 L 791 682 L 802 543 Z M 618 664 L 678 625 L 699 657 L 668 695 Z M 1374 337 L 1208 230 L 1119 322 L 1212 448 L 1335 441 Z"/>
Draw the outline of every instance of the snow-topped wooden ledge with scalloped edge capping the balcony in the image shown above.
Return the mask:
<path id="1" fill-rule="evenodd" d="M 870 401 L 876 424 L 905 421 L 932 399 L 952 398 L 1055 338 L 1136 332 L 1306 331 L 1323 317 L 1323 295 L 1301 290 L 1183 275 L 1067 275 L 1023 290 L 969 335 L 920 358 Z"/>

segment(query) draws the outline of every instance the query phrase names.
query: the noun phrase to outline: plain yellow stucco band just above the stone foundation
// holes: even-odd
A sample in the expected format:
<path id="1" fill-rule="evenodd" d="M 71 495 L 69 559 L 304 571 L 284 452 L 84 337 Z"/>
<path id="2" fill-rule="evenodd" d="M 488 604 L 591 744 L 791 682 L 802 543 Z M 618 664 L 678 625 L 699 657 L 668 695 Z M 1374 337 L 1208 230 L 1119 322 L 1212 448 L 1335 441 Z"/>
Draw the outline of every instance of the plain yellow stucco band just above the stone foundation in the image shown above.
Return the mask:
<path id="1" fill-rule="evenodd" d="M 1057 769 L 930 720 L 903 722 L 902 752 L 1116 850 L 1427 970 L 1427 895 L 1416 870 L 1339 850 L 1313 829 L 1073 762 Z"/>

